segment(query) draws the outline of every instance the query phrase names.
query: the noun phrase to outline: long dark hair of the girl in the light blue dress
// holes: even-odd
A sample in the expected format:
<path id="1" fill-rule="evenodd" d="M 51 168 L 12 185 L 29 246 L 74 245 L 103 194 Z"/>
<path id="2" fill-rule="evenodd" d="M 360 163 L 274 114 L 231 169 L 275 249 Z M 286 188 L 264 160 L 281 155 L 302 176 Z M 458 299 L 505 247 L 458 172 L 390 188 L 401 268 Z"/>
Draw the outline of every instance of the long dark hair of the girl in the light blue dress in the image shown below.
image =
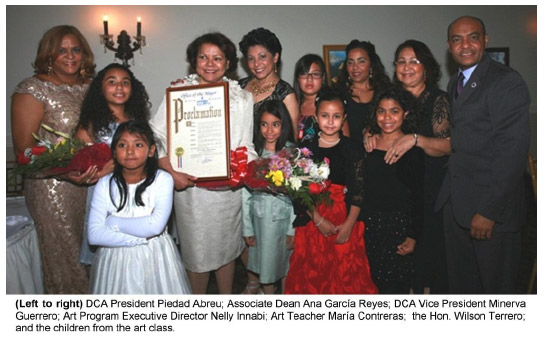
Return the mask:
<path id="1" fill-rule="evenodd" d="M 255 112 L 255 127 L 253 128 L 253 144 L 259 156 L 263 154 L 265 145 L 265 139 L 261 133 L 261 117 L 264 113 L 272 114 L 281 121 L 281 133 L 276 141 L 276 151 L 283 149 L 287 141 L 293 140 L 293 126 L 285 104 L 279 100 L 266 100 Z"/>

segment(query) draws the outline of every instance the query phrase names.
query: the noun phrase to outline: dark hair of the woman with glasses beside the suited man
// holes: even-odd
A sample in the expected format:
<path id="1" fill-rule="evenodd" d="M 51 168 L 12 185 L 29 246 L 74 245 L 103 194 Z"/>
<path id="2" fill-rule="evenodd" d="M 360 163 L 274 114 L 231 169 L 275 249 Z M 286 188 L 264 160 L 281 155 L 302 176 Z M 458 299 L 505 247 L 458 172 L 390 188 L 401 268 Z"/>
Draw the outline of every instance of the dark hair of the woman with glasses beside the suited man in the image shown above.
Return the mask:
<path id="1" fill-rule="evenodd" d="M 397 47 L 397 50 L 395 51 L 395 61 L 398 59 L 400 52 L 405 48 L 412 48 L 416 54 L 416 58 L 423 65 L 423 69 L 425 71 L 425 83 L 431 87 L 438 87 L 438 81 L 440 81 L 440 78 L 442 77 L 442 71 L 440 70 L 440 65 L 434 58 L 429 47 L 418 40 L 406 40 Z M 402 83 L 397 79 L 396 70 L 393 74 L 393 82 L 395 84 L 402 85 Z"/>

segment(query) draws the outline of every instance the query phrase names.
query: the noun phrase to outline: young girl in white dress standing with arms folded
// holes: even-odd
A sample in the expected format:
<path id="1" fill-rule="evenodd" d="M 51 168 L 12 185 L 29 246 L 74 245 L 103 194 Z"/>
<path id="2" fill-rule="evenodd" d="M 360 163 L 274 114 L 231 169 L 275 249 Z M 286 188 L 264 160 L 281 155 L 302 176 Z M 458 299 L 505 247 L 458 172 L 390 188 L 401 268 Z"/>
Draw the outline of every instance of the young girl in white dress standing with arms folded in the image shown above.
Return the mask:
<path id="1" fill-rule="evenodd" d="M 111 149 L 113 173 L 96 184 L 89 242 L 99 245 L 93 294 L 191 293 L 176 245 L 167 232 L 172 177 L 158 169 L 155 139 L 142 122 L 119 125 Z"/>

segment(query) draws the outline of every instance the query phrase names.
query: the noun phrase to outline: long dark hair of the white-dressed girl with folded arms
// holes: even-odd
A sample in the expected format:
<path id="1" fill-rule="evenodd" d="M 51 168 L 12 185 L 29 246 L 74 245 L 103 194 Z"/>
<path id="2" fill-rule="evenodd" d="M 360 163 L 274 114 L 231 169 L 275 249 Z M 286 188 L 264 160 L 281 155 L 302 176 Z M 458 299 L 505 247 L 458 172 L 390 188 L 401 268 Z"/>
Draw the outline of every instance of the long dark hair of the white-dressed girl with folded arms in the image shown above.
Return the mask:
<path id="1" fill-rule="evenodd" d="M 127 182 L 125 181 L 125 177 L 123 176 L 123 167 L 117 162 L 117 156 L 115 154 L 115 149 L 117 147 L 117 143 L 119 143 L 119 139 L 121 138 L 121 135 L 123 135 L 124 132 L 128 132 L 129 134 L 136 134 L 139 135 L 141 138 L 145 140 L 147 145 L 149 147 L 155 145 L 155 136 L 153 135 L 153 131 L 151 130 L 151 127 L 145 123 L 145 122 L 139 122 L 139 121 L 128 121 L 125 123 L 121 123 L 117 130 L 115 131 L 115 134 L 113 134 L 113 139 L 111 142 L 111 151 L 113 153 L 113 162 L 115 163 L 115 167 L 113 169 L 113 175 L 110 178 L 110 199 L 113 202 L 113 205 L 117 207 L 117 211 L 121 211 L 125 205 L 127 204 L 127 198 L 128 198 L 128 187 Z M 159 170 L 159 155 L 157 153 L 157 150 L 155 149 L 155 154 L 152 157 L 148 157 L 145 162 L 145 180 L 139 184 L 136 187 L 136 194 L 134 196 L 134 199 L 136 200 L 136 205 L 138 206 L 144 206 L 144 202 L 142 200 L 142 193 L 145 191 L 145 189 L 150 186 L 154 181 L 155 177 L 157 176 L 157 171 Z M 119 205 L 117 205 L 116 201 L 113 198 L 112 195 L 112 185 L 115 183 L 117 185 L 117 188 L 119 189 Z"/>

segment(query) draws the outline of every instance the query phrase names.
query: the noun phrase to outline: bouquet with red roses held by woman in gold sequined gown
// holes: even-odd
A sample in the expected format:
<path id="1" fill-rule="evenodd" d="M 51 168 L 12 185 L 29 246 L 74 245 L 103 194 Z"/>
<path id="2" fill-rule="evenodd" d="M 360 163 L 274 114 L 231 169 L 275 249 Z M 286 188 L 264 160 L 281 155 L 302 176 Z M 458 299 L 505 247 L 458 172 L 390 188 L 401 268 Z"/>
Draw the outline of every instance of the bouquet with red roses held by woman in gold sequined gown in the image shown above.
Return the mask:
<path id="1" fill-rule="evenodd" d="M 55 134 L 56 142 L 40 139 L 32 133 L 38 145 L 26 148 L 17 156 L 18 165 L 13 171 L 14 175 L 46 177 L 69 171 L 84 172 L 91 165 L 96 165 L 100 170 L 112 158 L 110 147 L 105 143 L 86 146 L 83 141 L 73 139 L 48 125 L 42 124 L 41 127 Z"/>

